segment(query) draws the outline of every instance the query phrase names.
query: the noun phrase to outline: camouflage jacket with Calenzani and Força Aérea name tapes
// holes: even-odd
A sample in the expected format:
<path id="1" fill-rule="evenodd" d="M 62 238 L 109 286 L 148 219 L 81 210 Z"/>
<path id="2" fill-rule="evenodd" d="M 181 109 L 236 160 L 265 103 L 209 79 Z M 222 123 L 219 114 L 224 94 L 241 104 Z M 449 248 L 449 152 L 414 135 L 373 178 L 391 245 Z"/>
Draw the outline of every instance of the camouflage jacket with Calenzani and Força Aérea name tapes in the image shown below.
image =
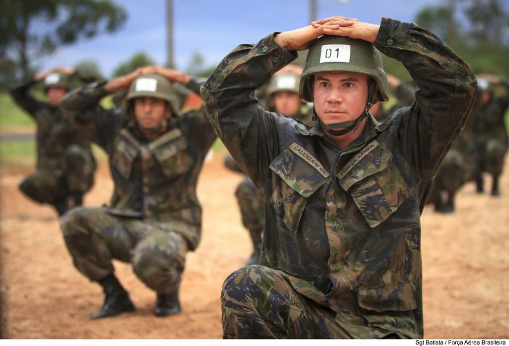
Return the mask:
<path id="1" fill-rule="evenodd" d="M 275 42 L 234 49 L 202 86 L 219 138 L 262 190 L 262 264 L 336 312 L 352 337 L 422 338 L 420 213 L 475 98 L 470 67 L 416 24 L 383 18 L 375 46 L 417 82 L 416 102 L 339 148 L 258 107 L 254 91 L 296 58 Z"/>

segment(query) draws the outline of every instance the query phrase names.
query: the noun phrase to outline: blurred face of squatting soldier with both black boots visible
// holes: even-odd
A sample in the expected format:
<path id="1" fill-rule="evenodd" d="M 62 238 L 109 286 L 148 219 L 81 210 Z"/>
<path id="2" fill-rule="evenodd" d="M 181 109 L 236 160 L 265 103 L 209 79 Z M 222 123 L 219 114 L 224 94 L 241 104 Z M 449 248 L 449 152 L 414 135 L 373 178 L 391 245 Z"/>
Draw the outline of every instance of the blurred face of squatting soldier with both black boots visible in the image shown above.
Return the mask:
<path id="1" fill-rule="evenodd" d="M 165 126 L 171 113 L 166 101 L 154 97 L 137 97 L 134 99 L 134 117 L 146 130 L 158 130 Z"/>

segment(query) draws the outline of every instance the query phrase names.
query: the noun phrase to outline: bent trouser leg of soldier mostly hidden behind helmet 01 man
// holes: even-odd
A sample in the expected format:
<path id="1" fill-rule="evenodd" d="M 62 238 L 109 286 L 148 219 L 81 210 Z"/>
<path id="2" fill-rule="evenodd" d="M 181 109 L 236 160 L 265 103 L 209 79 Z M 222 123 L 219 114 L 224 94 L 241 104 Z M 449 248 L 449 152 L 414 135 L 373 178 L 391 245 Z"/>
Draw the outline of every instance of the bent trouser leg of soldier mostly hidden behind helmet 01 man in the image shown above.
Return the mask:
<path id="1" fill-rule="evenodd" d="M 249 230 L 253 244 L 262 241 L 264 222 L 263 198 L 251 179 L 245 178 L 237 189 L 235 196 L 239 203 L 242 224 Z"/>

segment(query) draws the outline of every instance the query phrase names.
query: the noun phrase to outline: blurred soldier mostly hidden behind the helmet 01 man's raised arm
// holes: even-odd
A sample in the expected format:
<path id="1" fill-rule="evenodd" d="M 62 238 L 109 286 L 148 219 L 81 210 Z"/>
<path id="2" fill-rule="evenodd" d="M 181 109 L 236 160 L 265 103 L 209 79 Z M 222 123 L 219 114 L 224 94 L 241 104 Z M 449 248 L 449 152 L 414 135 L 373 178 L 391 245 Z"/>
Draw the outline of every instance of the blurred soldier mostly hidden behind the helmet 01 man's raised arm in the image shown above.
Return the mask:
<path id="1" fill-rule="evenodd" d="M 292 117 L 308 126 L 313 124 L 313 109 L 299 99 L 299 82 L 302 67 L 287 65 L 276 72 L 264 86 L 268 110 Z M 224 159 L 224 165 L 231 170 L 242 172 L 231 155 Z M 251 179 L 245 177 L 235 190 L 235 196 L 242 216 L 242 224 L 249 230 L 253 253 L 246 265 L 258 264 L 262 249 L 263 199 Z"/>

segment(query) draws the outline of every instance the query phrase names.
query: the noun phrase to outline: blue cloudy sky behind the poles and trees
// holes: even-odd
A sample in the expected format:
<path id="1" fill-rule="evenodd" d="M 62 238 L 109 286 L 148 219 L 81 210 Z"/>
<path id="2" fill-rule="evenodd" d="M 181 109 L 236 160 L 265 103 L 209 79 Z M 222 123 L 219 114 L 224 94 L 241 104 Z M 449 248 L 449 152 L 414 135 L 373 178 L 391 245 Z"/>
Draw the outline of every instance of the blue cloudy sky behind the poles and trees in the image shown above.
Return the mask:
<path id="1" fill-rule="evenodd" d="M 101 74 L 113 71 L 139 52 L 156 64 L 167 61 L 166 0 L 112 0 L 125 8 L 128 19 L 115 34 L 102 34 L 61 47 L 51 56 L 34 61 L 41 71 L 54 66 L 75 67 L 95 61 Z M 310 23 L 311 0 L 172 0 L 173 60 L 176 69 L 186 70 L 194 53 L 200 53 L 204 68 L 216 66 L 237 45 L 257 43 L 278 31 L 288 31 Z M 333 15 L 380 23 L 382 16 L 415 21 L 427 6 L 441 0 L 314 0 L 317 18 Z M 40 25 L 40 24 L 39 24 Z M 37 26 L 34 26 L 34 30 Z"/>

